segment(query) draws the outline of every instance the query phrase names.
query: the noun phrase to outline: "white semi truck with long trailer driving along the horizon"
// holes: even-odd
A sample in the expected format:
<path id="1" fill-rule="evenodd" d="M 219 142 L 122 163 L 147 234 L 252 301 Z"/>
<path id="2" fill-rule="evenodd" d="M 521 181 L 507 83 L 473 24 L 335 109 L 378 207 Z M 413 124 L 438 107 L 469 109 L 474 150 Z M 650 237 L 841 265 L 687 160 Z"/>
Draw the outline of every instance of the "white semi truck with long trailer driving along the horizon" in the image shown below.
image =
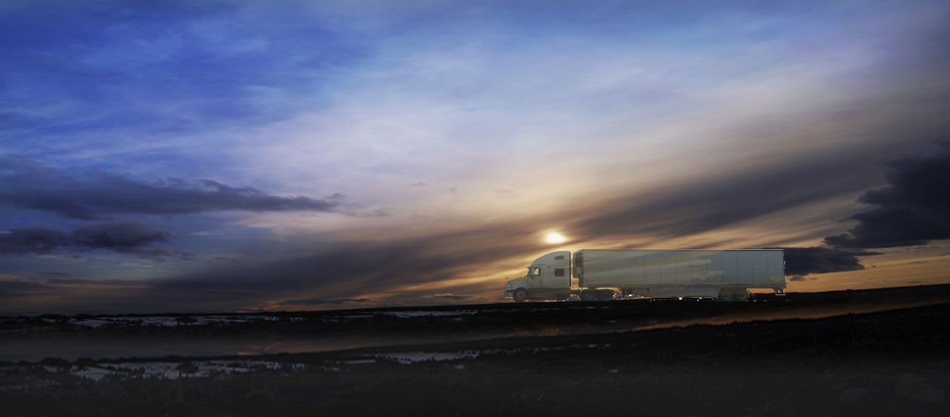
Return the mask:
<path id="1" fill-rule="evenodd" d="M 516 302 L 574 294 L 581 301 L 618 294 L 746 301 L 751 289 L 785 294 L 786 288 L 781 249 L 582 249 L 573 259 L 558 251 L 535 259 L 525 275 L 505 279 L 504 297 Z"/>

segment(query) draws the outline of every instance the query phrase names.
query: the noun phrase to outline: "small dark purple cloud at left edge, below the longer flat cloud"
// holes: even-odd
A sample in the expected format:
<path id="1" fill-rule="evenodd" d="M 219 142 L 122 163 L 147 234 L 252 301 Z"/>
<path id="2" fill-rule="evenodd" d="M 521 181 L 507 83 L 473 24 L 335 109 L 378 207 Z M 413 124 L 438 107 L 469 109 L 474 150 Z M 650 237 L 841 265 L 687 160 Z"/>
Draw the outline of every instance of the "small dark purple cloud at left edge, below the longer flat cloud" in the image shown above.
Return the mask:
<path id="1" fill-rule="evenodd" d="M 169 257 L 190 260 L 195 254 L 151 248 L 153 243 L 174 237 L 137 221 L 84 224 L 69 232 L 48 227 L 23 227 L 0 233 L 0 254 L 49 254 L 56 251 L 105 249 L 163 260 Z"/>

